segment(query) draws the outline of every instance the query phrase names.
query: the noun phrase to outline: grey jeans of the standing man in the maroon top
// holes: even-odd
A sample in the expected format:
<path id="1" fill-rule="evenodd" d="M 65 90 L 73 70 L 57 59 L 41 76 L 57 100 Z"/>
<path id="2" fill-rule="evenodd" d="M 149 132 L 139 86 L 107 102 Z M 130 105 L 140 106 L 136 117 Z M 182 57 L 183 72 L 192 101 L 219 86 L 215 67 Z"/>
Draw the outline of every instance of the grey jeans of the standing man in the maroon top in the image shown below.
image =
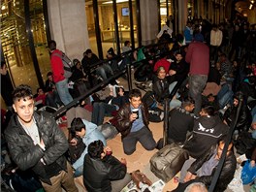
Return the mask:
<path id="1" fill-rule="evenodd" d="M 199 116 L 202 107 L 202 92 L 207 84 L 208 76 L 190 75 L 189 76 L 189 96 L 195 101 L 194 113 Z"/>

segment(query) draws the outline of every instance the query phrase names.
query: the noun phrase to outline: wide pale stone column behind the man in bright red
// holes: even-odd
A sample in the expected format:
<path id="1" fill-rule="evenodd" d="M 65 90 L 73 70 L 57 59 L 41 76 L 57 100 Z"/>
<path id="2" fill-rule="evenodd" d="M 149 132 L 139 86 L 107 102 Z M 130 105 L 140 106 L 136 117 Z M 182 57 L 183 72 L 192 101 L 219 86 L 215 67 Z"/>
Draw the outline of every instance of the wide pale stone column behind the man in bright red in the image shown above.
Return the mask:
<path id="1" fill-rule="evenodd" d="M 84 0 L 48 0 L 48 21 L 51 39 L 71 59 L 81 60 L 90 48 Z"/>

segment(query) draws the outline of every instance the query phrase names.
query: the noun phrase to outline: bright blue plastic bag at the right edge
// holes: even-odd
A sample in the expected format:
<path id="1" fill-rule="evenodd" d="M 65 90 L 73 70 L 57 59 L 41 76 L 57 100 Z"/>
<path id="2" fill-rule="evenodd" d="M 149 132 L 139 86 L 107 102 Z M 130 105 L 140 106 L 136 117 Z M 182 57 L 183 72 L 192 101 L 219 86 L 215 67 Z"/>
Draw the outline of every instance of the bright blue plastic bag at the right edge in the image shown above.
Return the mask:
<path id="1" fill-rule="evenodd" d="M 242 170 L 241 176 L 242 184 L 249 184 L 256 178 L 256 167 L 250 166 L 250 161 L 246 161 Z"/>

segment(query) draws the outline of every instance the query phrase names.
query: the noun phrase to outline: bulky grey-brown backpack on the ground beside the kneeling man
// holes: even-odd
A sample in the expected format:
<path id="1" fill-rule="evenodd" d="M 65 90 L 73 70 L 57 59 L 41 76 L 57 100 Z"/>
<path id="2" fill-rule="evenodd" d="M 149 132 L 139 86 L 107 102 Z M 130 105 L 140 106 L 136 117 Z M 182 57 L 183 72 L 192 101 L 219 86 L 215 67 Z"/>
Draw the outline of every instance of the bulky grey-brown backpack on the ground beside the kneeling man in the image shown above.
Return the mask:
<path id="1" fill-rule="evenodd" d="M 150 158 L 151 172 L 168 182 L 181 170 L 189 158 L 188 152 L 177 144 L 168 144 Z"/>

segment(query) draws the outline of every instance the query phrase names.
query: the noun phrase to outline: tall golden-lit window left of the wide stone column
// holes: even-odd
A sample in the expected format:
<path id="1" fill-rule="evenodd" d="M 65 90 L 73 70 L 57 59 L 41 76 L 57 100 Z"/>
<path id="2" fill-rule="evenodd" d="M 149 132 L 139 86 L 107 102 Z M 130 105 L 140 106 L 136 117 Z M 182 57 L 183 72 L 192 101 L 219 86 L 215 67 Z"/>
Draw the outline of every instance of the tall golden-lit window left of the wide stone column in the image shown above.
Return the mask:
<path id="1" fill-rule="evenodd" d="M 42 76 L 49 70 L 49 58 L 46 50 L 46 33 L 43 16 L 43 0 L 29 1 L 31 31 L 42 66 Z M 15 86 L 24 83 L 32 87 L 33 93 L 39 86 L 29 40 L 26 31 L 24 1 L 4 1 L 1 5 L 1 46 Z"/>

